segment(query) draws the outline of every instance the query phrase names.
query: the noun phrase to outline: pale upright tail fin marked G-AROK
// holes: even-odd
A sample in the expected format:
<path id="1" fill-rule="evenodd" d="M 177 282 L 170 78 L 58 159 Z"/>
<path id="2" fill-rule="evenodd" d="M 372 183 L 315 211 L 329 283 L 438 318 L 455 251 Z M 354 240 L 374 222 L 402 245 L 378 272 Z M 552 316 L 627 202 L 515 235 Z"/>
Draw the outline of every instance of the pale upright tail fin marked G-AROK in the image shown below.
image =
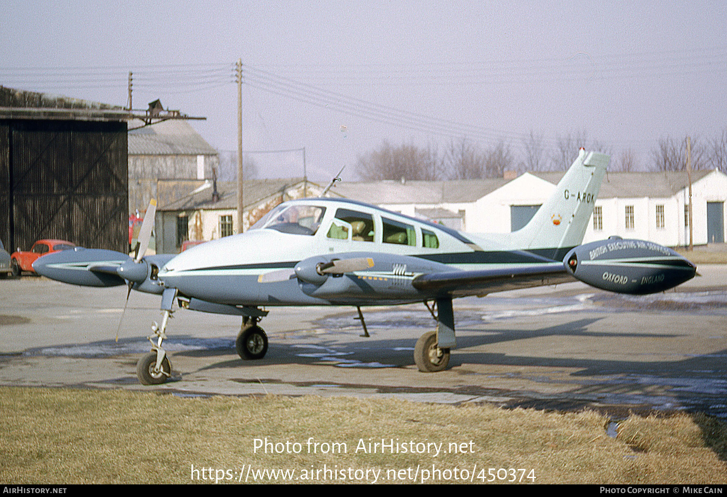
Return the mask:
<path id="1" fill-rule="evenodd" d="M 610 159 L 581 149 L 553 195 L 525 227 L 513 233 L 513 242 L 525 250 L 540 249 L 541 255 L 551 259 L 563 259 L 566 251 L 583 241 Z"/>

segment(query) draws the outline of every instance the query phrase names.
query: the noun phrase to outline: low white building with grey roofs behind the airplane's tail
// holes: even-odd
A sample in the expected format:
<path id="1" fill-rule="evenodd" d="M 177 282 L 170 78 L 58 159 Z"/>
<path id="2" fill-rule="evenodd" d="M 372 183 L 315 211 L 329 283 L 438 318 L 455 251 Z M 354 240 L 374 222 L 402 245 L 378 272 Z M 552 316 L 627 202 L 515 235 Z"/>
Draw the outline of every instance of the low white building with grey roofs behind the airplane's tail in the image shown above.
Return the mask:
<path id="1" fill-rule="evenodd" d="M 553 193 L 563 172 L 449 182 L 345 182 L 334 193 L 426 217 L 472 233 L 508 233 L 522 227 Z M 694 244 L 724 241 L 727 175 L 693 171 Z M 686 172 L 608 173 L 595 202 L 584 242 L 610 235 L 665 246 L 689 243 Z M 687 217 L 688 219 L 688 217 Z"/>

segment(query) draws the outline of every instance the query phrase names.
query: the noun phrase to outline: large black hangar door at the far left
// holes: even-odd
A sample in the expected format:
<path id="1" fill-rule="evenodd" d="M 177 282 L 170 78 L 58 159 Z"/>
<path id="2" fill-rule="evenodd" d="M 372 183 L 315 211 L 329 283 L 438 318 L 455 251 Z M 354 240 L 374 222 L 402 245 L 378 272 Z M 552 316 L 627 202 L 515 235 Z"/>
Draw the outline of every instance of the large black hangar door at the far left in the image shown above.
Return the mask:
<path id="1" fill-rule="evenodd" d="M 125 252 L 126 123 L 0 121 L 0 235 L 28 250 L 39 238 Z"/>

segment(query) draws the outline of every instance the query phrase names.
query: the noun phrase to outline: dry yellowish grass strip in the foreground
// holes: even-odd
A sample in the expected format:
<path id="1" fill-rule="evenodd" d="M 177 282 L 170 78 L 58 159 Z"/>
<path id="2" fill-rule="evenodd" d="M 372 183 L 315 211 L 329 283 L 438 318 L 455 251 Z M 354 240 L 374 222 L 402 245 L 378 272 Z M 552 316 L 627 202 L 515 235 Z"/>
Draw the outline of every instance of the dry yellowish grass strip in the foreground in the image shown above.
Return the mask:
<path id="1" fill-rule="evenodd" d="M 240 469 L 245 472 L 243 465 L 253 472 L 294 469 L 299 478 L 315 476 L 325 465 L 345 482 L 358 476 L 365 482 L 366 469 L 369 482 L 371 470 L 380 471 L 379 482 L 411 482 L 407 478 L 417 465 L 417 482 L 425 476 L 422 470 L 439 481 L 460 482 L 465 470 L 473 482 L 481 482 L 491 478 L 490 468 L 496 481 L 497 469 L 513 468 L 527 470 L 515 472 L 516 478 L 531 482 L 527 476 L 532 474 L 536 483 L 727 482 L 727 424 L 722 421 L 686 414 L 632 416 L 619 425 L 615 439 L 606 435 L 608 422 L 592 411 L 2 387 L 0 483 L 186 483 L 193 481 L 192 466 L 202 469 L 194 481 L 219 477 L 225 482 Z M 265 437 L 281 443 L 278 449 L 289 443 L 290 452 L 300 453 L 271 453 L 270 446 L 268 453 L 262 448 L 255 453 L 255 439 Z M 310 437 L 321 444 L 318 453 L 308 453 Z M 369 441 L 382 438 L 409 447 L 413 441 L 414 448 L 422 443 L 422 450 L 426 443 L 441 444 L 441 453 L 434 456 L 433 445 L 431 453 L 356 452 L 360 440 L 368 448 Z M 348 450 L 321 453 L 327 448 L 322 444 L 334 442 Z M 454 445 L 457 453 L 449 450 Z M 324 475 L 318 471 L 316 482 Z M 332 478 L 331 472 L 327 475 Z M 511 475 L 499 472 L 505 480 Z M 261 480 L 276 481 L 269 474 Z"/>

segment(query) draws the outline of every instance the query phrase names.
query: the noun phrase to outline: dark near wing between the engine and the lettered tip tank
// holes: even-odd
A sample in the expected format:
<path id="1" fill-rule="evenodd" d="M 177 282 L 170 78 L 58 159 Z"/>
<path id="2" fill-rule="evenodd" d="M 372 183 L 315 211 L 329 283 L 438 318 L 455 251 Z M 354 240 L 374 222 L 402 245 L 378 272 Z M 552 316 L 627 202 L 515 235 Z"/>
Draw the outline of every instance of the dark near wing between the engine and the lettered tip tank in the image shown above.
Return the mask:
<path id="1" fill-rule="evenodd" d="M 576 278 L 563 267 L 562 262 L 551 262 L 499 269 L 433 272 L 417 276 L 411 281 L 411 286 L 426 294 L 460 297 L 574 280 Z"/>

